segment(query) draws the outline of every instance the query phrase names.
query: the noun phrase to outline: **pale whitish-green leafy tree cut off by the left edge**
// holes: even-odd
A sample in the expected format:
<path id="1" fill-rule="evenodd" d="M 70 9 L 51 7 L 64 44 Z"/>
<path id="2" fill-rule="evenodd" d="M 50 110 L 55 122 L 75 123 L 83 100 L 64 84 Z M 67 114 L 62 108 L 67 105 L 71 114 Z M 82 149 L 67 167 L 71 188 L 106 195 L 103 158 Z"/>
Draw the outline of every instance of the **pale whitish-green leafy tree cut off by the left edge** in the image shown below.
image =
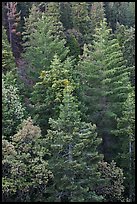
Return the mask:
<path id="1" fill-rule="evenodd" d="M 12 80 L 12 81 L 11 81 Z M 2 79 L 2 133 L 9 140 L 24 118 L 25 109 L 21 104 L 16 79 L 11 72 Z"/>

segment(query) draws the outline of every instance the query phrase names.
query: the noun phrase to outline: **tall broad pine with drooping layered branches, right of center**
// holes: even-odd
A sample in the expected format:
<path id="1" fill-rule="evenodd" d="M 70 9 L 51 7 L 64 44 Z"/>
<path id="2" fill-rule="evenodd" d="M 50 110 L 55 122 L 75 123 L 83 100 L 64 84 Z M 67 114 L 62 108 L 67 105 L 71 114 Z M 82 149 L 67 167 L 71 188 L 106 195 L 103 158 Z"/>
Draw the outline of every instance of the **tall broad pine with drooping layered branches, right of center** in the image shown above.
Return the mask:
<path id="1" fill-rule="evenodd" d="M 129 68 L 125 66 L 118 41 L 112 38 L 105 20 L 96 29 L 92 50 L 84 47 L 77 69 L 81 84 L 79 99 L 87 107 L 85 119 L 97 124 L 105 157 L 112 160 L 113 148 L 116 153 L 116 138 L 111 136 L 111 130 L 116 128 L 116 117 L 122 114 L 122 105 L 131 85 Z"/>

